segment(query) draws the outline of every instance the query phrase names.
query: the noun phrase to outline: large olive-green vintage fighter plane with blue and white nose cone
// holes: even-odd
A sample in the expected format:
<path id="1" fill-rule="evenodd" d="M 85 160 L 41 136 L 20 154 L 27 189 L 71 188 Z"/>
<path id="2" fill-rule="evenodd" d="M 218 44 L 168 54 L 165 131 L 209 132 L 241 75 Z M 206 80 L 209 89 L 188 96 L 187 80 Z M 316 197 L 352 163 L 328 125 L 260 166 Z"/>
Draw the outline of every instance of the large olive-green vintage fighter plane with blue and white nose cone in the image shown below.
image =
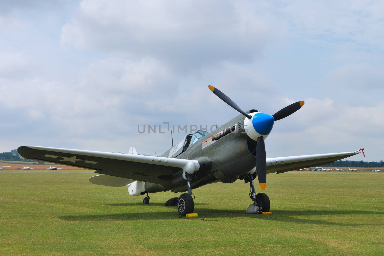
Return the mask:
<path id="1" fill-rule="evenodd" d="M 261 190 L 265 190 L 267 173 L 330 164 L 359 154 L 362 150 L 266 158 L 264 140 L 273 125 L 298 111 L 304 101 L 269 115 L 255 109 L 243 111 L 223 92 L 213 86 L 208 87 L 240 115 L 221 126 L 218 129 L 220 132 L 197 130 L 186 135 L 159 157 L 137 155 L 134 148 L 129 150 L 130 154 L 35 146 L 22 146 L 17 151 L 26 159 L 93 169 L 101 175 L 89 178 L 91 183 L 113 187 L 127 185 L 129 195 L 147 195 L 144 204 L 149 203 L 148 193 L 188 191 L 177 200 L 179 214 L 186 215 L 194 210 L 192 188 L 215 182 L 233 183 L 238 179 L 250 183 L 249 195 L 254 206 L 251 213 L 269 211 L 268 196 L 265 193 L 256 194 L 253 182 L 256 177 Z M 292 143 L 295 141 L 292 140 Z M 222 191 L 217 193 L 223 194 Z"/>

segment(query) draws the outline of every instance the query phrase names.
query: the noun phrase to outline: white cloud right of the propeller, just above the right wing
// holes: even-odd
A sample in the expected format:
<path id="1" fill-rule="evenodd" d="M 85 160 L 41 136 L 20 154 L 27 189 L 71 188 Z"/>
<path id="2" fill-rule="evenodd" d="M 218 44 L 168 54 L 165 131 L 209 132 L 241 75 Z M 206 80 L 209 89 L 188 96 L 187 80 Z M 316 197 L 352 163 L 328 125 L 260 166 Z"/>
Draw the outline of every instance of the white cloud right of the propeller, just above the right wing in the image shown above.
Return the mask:
<path id="1" fill-rule="evenodd" d="M 374 107 L 351 108 L 332 99 L 306 99 L 295 114 L 275 123 L 266 140 L 272 147 L 267 147 L 269 154 L 283 156 L 287 149 L 290 155 L 321 154 L 365 147 L 370 152 L 367 157 L 380 160 L 376 150 L 384 143 L 383 111 L 383 101 Z"/>

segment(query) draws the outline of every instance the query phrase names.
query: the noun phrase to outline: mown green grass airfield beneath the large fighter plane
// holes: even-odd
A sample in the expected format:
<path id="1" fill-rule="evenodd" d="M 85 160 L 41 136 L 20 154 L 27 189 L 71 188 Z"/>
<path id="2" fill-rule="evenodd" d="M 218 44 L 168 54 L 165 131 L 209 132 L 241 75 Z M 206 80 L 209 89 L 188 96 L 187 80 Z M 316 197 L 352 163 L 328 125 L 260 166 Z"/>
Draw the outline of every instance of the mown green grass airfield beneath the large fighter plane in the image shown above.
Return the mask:
<path id="1" fill-rule="evenodd" d="M 384 254 L 381 173 L 270 174 L 272 215 L 245 213 L 248 184 L 215 183 L 193 191 L 198 218 L 163 206 L 179 194 L 142 205 L 91 176 L 0 173 L 0 254 Z"/>

